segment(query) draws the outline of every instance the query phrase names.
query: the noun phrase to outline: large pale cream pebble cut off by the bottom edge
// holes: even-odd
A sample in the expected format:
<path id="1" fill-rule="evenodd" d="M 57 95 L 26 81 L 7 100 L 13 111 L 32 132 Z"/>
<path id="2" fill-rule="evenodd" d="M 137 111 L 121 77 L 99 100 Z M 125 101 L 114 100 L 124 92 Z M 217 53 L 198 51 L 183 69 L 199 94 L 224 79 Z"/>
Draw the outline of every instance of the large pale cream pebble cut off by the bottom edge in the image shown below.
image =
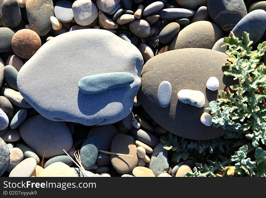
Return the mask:
<path id="1" fill-rule="evenodd" d="M 72 168 L 63 162 L 54 162 L 44 168 L 39 177 L 77 177 L 77 175 Z"/>

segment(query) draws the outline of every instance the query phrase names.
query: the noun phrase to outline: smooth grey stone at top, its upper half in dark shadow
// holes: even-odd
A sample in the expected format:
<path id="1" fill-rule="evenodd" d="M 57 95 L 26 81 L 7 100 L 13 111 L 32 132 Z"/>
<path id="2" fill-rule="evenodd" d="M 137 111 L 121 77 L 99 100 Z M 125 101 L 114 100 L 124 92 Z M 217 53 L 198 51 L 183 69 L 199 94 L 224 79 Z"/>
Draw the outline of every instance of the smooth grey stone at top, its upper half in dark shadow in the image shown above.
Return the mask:
<path id="1" fill-rule="evenodd" d="M 54 15 L 63 23 L 68 23 L 73 20 L 72 3 L 70 1 L 58 1 L 54 6 Z"/>

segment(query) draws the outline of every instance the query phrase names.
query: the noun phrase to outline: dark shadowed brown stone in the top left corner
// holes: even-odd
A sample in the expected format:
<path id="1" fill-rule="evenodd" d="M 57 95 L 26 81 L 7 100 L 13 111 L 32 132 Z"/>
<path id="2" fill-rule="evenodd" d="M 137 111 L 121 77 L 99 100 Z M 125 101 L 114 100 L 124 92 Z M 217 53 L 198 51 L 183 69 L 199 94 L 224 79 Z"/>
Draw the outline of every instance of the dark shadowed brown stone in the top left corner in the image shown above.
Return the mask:
<path id="1" fill-rule="evenodd" d="M 17 0 L 4 0 L 2 2 L 2 24 L 4 27 L 14 28 L 21 22 L 21 13 Z"/>

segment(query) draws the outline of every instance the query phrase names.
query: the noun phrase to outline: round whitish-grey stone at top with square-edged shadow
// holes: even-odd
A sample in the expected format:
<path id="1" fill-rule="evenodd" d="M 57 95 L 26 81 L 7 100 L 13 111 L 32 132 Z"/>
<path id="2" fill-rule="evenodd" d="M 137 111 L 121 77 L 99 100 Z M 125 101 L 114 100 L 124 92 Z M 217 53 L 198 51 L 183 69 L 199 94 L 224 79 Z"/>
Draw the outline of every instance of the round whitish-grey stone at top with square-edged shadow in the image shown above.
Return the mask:
<path id="1" fill-rule="evenodd" d="M 98 17 L 98 9 L 90 0 L 77 0 L 72 5 L 74 19 L 79 25 L 89 25 Z"/>

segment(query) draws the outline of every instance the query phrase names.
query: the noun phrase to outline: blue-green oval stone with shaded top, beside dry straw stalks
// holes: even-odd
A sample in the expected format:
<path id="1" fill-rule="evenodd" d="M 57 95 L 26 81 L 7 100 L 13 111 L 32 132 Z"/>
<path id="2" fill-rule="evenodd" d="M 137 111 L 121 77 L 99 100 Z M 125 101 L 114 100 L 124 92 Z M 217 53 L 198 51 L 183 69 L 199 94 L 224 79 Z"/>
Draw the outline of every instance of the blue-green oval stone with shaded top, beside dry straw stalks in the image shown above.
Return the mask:
<path id="1" fill-rule="evenodd" d="M 91 169 L 92 166 L 95 165 L 98 158 L 99 146 L 99 138 L 96 136 L 89 137 L 82 144 L 80 149 L 80 160 L 86 170 Z"/>

